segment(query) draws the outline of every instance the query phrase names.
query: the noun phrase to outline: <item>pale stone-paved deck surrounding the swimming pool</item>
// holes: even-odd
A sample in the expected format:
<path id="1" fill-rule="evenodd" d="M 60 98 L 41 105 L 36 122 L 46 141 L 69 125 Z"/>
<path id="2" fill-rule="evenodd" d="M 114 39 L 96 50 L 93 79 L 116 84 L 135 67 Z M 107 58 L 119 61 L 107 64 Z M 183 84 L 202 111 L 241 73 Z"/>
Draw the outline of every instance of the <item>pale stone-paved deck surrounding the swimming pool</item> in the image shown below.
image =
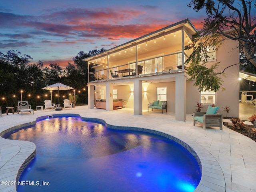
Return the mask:
<path id="1" fill-rule="evenodd" d="M 187 114 L 186 121 L 175 121 L 173 113 L 147 112 L 140 116 L 134 115 L 132 109 L 106 111 L 88 109 L 77 106 L 62 111 L 35 111 L 34 115 L 26 112 L 21 114 L 2 114 L 0 132 L 34 122 L 36 118 L 52 114 L 78 114 L 85 118 L 99 118 L 114 126 L 127 126 L 157 130 L 174 136 L 198 154 L 202 163 L 202 179 L 196 188 L 197 192 L 256 192 L 256 142 L 234 132 L 225 126 L 202 129 L 193 126 L 192 114 Z M 34 152 L 35 145 L 31 142 L 6 140 L 0 138 L 0 191 L 15 192 L 11 183 L 2 185 L 2 181 L 16 181 L 18 170 L 23 162 Z"/>

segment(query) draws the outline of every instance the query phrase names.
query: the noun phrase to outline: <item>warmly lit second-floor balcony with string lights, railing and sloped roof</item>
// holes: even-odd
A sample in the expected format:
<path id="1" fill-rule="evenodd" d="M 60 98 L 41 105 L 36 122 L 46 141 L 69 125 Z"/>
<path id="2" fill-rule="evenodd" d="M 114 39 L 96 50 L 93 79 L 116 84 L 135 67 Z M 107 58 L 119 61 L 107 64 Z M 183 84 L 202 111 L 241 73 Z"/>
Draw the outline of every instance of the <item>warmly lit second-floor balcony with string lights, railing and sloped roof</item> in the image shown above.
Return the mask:
<path id="1" fill-rule="evenodd" d="M 88 82 L 122 80 L 185 71 L 196 30 L 183 20 L 110 50 L 84 59 Z"/>

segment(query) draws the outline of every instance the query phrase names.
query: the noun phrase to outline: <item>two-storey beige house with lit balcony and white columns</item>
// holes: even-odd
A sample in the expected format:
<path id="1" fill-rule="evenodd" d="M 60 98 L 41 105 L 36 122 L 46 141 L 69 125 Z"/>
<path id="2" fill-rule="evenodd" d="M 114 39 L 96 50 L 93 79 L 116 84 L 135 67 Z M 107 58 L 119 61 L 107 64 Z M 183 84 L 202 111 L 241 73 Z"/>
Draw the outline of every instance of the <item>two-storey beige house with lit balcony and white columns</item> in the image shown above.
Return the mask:
<path id="1" fill-rule="evenodd" d="M 184 121 L 186 114 L 192 114 L 196 103 L 201 102 L 203 110 L 214 104 L 220 106 L 218 112 L 224 115 L 221 107 L 230 106 L 229 116 L 238 117 L 239 65 L 225 70 L 224 92 L 199 92 L 193 86 L 194 81 L 188 81 L 184 62 L 192 50 L 184 47 L 190 45 L 196 32 L 186 19 L 84 59 L 90 69 L 88 108 L 94 108 L 101 99 L 110 111 L 114 108 L 113 102 L 115 105 L 120 99 L 122 107 L 132 108 L 135 115 L 141 115 L 148 109 L 149 102 L 166 100 L 167 112 L 175 113 L 176 120 Z M 208 65 L 221 62 L 218 70 L 239 63 L 238 42 L 232 40 L 225 40 L 218 50 L 208 53 Z"/>

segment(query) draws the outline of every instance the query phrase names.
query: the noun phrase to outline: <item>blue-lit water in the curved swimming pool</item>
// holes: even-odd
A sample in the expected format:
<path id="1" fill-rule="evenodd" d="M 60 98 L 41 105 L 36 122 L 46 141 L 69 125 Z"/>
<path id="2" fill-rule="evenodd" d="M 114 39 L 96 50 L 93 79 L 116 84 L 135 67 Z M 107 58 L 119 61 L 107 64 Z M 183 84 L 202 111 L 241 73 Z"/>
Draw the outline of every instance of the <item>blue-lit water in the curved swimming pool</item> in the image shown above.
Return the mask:
<path id="1" fill-rule="evenodd" d="M 36 144 L 20 177 L 35 186 L 18 192 L 192 192 L 201 179 L 194 156 L 173 140 L 77 117 L 42 120 L 8 139 Z"/>

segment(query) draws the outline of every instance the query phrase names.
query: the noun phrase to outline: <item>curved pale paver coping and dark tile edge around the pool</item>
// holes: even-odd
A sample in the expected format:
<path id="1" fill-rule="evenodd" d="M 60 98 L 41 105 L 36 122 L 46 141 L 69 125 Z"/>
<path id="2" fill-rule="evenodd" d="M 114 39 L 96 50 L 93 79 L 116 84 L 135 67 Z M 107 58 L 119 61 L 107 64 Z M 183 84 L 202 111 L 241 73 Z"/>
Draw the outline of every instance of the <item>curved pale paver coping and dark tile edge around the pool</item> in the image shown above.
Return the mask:
<path id="1" fill-rule="evenodd" d="M 197 188 L 194 190 L 194 192 L 204 192 L 204 191 L 225 192 L 226 191 L 224 174 L 217 160 L 214 158 L 214 156 L 212 156 L 212 154 L 210 154 L 210 152 L 206 150 L 203 146 L 201 146 L 200 144 L 194 142 L 193 140 L 189 139 L 187 136 L 184 136 L 180 133 L 173 136 L 164 131 L 157 131 L 153 129 L 133 127 L 133 126 L 117 126 L 117 125 L 109 124 L 105 120 L 100 118 L 82 117 L 80 114 L 64 113 L 64 114 L 51 114 L 46 116 L 40 116 L 36 118 L 36 121 L 20 124 L 18 126 L 13 126 L 5 129 L 0 133 L 0 136 L 2 137 L 7 132 L 19 129 L 24 126 L 34 125 L 36 124 L 36 122 L 40 120 L 49 118 L 49 116 L 51 116 L 52 118 L 63 117 L 63 116 L 79 117 L 82 120 L 86 120 L 86 121 L 100 122 L 105 126 L 107 126 L 108 128 L 112 128 L 112 129 L 144 131 L 144 132 L 154 133 L 154 134 L 158 134 L 158 135 L 170 138 L 178 142 L 182 146 L 184 146 L 186 149 L 188 149 L 198 161 L 198 164 L 201 168 L 202 178 Z M 14 170 L 16 174 L 12 173 L 12 176 L 6 175 L 5 178 L 0 178 L 0 180 L 6 179 L 8 181 L 17 182 L 18 179 L 20 178 L 22 171 L 26 168 L 29 162 L 36 155 L 36 146 L 34 143 L 28 142 L 28 141 L 18 141 L 18 140 L 12 140 L 12 141 L 13 141 L 12 145 L 19 146 L 20 150 L 14 155 L 13 158 L 11 158 L 8 161 L 9 163 L 7 162 L 4 166 L 2 166 L 3 169 L 2 168 L 0 169 L 0 174 L 2 170 L 5 170 L 5 168 L 8 169 L 8 166 L 10 165 L 13 166 L 13 164 L 15 165 L 19 164 L 19 166 L 16 166 L 16 170 Z M 6 186 L 6 188 L 4 188 L 4 186 L 1 185 L 0 190 L 1 189 L 5 189 L 6 191 L 16 191 L 16 186 Z"/>

